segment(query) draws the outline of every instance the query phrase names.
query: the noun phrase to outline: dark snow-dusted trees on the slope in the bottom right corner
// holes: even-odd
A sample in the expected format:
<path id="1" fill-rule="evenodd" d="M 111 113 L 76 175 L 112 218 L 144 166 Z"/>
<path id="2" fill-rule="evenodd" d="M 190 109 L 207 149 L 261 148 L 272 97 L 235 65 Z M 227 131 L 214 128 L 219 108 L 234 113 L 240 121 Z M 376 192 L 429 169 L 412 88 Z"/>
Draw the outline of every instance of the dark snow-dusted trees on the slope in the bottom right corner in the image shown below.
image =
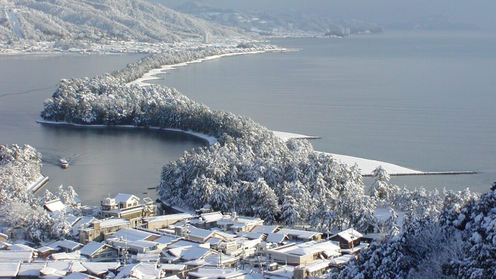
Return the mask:
<path id="1" fill-rule="evenodd" d="M 409 211 L 398 235 L 372 242 L 329 278 L 496 278 L 496 191 L 441 196 L 438 214 Z"/>

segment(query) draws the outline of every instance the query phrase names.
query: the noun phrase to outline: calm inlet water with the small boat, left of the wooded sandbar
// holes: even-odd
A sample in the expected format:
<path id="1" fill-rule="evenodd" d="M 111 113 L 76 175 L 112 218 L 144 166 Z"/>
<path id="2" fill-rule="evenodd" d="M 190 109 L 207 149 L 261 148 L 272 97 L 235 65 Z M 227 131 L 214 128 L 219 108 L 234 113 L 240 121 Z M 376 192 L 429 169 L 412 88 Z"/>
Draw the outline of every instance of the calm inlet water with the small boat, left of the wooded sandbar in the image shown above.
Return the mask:
<path id="1" fill-rule="evenodd" d="M 124 68 L 140 55 L 0 56 L 0 144 L 30 144 L 43 155 L 45 186 L 73 186 L 88 205 L 121 192 L 155 198 L 162 166 L 203 141 L 173 132 L 37 124 L 61 78 Z M 58 165 L 65 157 L 70 166 Z"/>

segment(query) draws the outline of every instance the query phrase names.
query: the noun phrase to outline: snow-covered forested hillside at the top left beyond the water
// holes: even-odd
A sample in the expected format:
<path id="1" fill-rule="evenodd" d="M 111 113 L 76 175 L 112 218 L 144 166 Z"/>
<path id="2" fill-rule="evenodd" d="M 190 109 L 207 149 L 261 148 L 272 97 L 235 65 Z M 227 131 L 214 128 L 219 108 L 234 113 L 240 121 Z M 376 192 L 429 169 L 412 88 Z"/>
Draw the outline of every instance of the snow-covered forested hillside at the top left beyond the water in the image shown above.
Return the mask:
<path id="1" fill-rule="evenodd" d="M 145 0 L 0 0 L 0 40 L 141 42 L 243 36 Z"/>

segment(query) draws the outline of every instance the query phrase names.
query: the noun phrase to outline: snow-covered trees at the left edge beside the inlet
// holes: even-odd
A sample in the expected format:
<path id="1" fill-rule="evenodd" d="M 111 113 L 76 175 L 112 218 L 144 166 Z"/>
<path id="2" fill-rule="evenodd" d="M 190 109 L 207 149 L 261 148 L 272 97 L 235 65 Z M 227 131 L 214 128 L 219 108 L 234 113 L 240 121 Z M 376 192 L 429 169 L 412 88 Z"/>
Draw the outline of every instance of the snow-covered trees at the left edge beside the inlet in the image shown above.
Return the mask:
<path id="1" fill-rule="evenodd" d="M 41 165 L 41 154 L 29 145 L 0 146 L 0 227 L 10 238 L 38 242 L 70 233 L 65 212 L 50 216 L 43 204 L 60 199 L 73 208 L 77 194 L 72 187 L 61 185 L 57 195 L 46 190 L 44 199 L 35 197 L 28 186 L 39 178 Z M 77 210 L 72 210 L 74 213 Z"/>

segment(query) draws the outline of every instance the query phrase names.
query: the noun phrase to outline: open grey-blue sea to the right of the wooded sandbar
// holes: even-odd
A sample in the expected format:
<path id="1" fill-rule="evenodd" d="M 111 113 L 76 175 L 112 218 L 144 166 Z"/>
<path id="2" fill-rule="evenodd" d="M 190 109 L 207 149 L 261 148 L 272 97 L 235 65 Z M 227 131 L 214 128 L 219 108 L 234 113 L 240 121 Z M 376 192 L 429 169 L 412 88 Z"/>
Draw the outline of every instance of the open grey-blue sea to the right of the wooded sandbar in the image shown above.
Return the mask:
<path id="1" fill-rule="evenodd" d="M 301 50 L 192 64 L 152 83 L 271 130 L 320 136 L 311 141 L 316 150 L 479 172 L 393 178 L 398 185 L 483 192 L 496 179 L 495 34 L 386 31 L 273 42 Z"/>

